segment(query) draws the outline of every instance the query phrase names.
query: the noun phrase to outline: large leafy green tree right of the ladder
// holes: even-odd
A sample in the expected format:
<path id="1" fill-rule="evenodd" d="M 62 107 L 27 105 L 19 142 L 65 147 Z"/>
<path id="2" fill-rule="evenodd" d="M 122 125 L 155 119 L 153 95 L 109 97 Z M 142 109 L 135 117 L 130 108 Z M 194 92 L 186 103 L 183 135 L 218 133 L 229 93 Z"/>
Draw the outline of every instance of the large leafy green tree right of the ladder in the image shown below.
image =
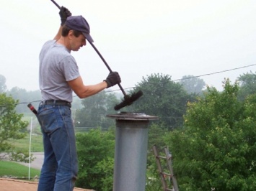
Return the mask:
<path id="1" fill-rule="evenodd" d="M 166 136 L 181 191 L 256 189 L 256 95 L 241 103 L 238 90 L 229 80 L 221 93 L 208 88 L 188 104 L 185 127 Z"/>

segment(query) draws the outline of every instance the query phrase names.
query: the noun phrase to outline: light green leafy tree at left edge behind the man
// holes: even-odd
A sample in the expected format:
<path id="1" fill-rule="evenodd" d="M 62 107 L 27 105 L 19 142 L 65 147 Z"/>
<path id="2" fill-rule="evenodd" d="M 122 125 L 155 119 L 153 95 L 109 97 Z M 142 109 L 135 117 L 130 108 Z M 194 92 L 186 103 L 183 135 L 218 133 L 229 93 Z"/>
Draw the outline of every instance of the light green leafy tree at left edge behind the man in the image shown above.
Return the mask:
<path id="1" fill-rule="evenodd" d="M 12 140 L 25 137 L 25 128 L 28 125 L 27 121 L 22 121 L 23 115 L 16 113 L 17 103 L 18 101 L 14 101 L 5 93 L 0 94 L 0 160 L 28 162 L 28 152 L 17 150 L 12 145 Z"/>

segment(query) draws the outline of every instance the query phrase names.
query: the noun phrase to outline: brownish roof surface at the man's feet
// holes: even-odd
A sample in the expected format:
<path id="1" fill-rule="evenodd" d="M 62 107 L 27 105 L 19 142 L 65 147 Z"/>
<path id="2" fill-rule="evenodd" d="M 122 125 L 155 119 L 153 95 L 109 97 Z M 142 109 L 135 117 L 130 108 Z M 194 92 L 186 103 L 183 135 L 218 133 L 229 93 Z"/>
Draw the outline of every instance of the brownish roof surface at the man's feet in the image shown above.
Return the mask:
<path id="1" fill-rule="evenodd" d="M 0 178 L 1 191 L 35 191 L 37 190 L 38 182 L 30 182 L 16 179 Z M 82 188 L 74 188 L 74 191 L 93 191 Z"/>

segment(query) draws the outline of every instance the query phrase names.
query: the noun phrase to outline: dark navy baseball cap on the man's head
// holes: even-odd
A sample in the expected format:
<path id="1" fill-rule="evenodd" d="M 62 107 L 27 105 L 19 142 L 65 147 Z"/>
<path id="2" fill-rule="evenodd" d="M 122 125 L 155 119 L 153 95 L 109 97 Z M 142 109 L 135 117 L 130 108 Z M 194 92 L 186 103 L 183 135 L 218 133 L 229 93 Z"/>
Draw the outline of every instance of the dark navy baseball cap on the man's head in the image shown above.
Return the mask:
<path id="1" fill-rule="evenodd" d="M 66 19 L 66 26 L 80 31 L 84 34 L 84 37 L 89 41 L 89 42 L 94 42 L 91 35 L 89 34 L 89 24 L 84 17 L 80 16 L 70 16 Z"/>

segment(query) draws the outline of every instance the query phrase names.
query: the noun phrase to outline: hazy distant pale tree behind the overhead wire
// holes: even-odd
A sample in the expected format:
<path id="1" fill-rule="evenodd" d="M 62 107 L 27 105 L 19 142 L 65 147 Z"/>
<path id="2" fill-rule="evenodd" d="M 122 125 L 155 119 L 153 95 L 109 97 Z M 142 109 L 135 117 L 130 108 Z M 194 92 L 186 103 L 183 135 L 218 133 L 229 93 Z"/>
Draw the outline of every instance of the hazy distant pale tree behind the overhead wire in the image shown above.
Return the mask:
<path id="1" fill-rule="evenodd" d="M 206 83 L 203 79 L 195 77 L 193 75 L 184 75 L 180 83 L 183 85 L 187 93 L 201 94 L 203 88 L 206 87 Z"/>

